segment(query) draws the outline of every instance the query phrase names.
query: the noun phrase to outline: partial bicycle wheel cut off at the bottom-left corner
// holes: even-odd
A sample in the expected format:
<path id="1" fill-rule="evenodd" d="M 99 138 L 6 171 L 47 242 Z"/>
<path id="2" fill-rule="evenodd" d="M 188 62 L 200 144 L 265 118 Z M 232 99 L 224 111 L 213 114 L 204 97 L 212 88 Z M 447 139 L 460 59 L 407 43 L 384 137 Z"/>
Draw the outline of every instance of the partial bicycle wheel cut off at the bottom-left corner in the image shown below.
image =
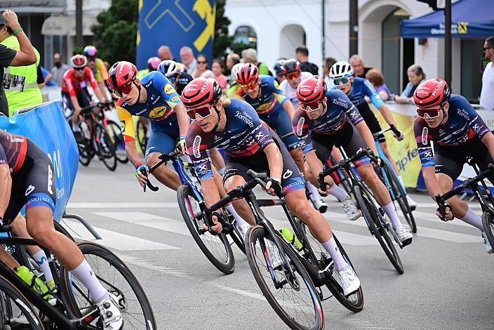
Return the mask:
<path id="1" fill-rule="evenodd" d="M 0 276 L 0 295 L 1 305 L 8 309 L 3 310 L 2 308 L 0 311 L 0 323 L 3 323 L 0 324 L 1 329 L 44 330 L 43 322 L 41 322 L 34 306 L 29 303 L 19 289 L 3 276 Z M 19 319 L 21 315 L 25 317 L 28 324 L 18 323 L 16 326 L 15 319 Z M 14 316 L 16 316 L 15 319 Z"/>

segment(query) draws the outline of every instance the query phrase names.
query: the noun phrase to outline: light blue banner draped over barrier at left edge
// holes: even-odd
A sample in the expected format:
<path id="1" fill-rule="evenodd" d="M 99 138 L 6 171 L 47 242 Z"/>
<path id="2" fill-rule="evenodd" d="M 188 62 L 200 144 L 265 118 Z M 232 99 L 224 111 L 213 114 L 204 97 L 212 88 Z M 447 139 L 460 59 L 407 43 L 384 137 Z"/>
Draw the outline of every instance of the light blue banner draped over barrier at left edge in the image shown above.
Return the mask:
<path id="1" fill-rule="evenodd" d="M 69 202 L 79 165 L 79 150 L 62 109 L 62 102 L 56 101 L 13 117 L 0 117 L 0 129 L 30 138 L 50 157 L 57 187 L 55 220 L 62 218 Z"/>

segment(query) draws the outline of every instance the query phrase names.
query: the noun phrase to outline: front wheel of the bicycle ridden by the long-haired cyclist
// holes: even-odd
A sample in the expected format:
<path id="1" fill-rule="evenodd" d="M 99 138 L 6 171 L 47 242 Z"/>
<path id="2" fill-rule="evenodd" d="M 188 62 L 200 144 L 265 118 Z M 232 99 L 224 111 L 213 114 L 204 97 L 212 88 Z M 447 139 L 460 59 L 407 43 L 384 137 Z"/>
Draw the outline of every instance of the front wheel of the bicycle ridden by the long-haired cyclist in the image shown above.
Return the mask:
<path id="1" fill-rule="evenodd" d="M 264 227 L 255 225 L 249 229 L 246 235 L 248 264 L 269 305 L 291 329 L 324 329 L 321 301 L 295 251 L 279 235 L 279 242 L 290 263 L 288 267 L 295 273 L 291 278 L 284 268 L 272 269 L 266 258 L 269 256 L 266 242 Z"/>

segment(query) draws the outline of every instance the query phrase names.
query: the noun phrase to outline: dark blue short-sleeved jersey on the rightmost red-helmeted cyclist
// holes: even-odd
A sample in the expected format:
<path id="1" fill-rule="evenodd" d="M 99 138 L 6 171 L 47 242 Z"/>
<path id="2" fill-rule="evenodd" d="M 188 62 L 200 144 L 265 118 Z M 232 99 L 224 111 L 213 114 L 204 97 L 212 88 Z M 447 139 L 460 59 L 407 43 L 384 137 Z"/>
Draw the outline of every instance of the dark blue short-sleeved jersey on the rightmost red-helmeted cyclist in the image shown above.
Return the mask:
<path id="1" fill-rule="evenodd" d="M 452 95 L 448 103 L 447 121 L 436 128 L 430 128 L 420 117 L 415 119 L 413 131 L 422 167 L 435 165 L 431 142 L 438 147 L 458 147 L 474 138 L 481 140 L 489 132 L 482 118 L 462 95 Z"/>

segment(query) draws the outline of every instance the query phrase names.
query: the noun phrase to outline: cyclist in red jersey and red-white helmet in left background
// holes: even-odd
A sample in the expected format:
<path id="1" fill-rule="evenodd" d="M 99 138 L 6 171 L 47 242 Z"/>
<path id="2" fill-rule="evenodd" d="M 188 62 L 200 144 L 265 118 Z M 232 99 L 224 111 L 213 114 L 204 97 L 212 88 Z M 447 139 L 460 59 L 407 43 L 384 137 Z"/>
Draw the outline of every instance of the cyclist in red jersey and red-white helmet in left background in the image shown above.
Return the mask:
<path id="1" fill-rule="evenodd" d="M 62 99 L 69 110 L 72 110 L 72 131 L 76 139 L 81 137 L 79 131 L 79 112 L 81 107 L 91 105 L 91 95 L 86 88 L 87 84 L 91 84 L 98 100 L 101 103 L 105 102 L 100 87 L 96 82 L 93 72 L 87 66 L 88 59 L 84 55 L 74 55 L 70 58 L 72 69 L 67 70 L 63 75 L 62 81 Z M 78 134 L 79 133 L 79 134 Z"/>

